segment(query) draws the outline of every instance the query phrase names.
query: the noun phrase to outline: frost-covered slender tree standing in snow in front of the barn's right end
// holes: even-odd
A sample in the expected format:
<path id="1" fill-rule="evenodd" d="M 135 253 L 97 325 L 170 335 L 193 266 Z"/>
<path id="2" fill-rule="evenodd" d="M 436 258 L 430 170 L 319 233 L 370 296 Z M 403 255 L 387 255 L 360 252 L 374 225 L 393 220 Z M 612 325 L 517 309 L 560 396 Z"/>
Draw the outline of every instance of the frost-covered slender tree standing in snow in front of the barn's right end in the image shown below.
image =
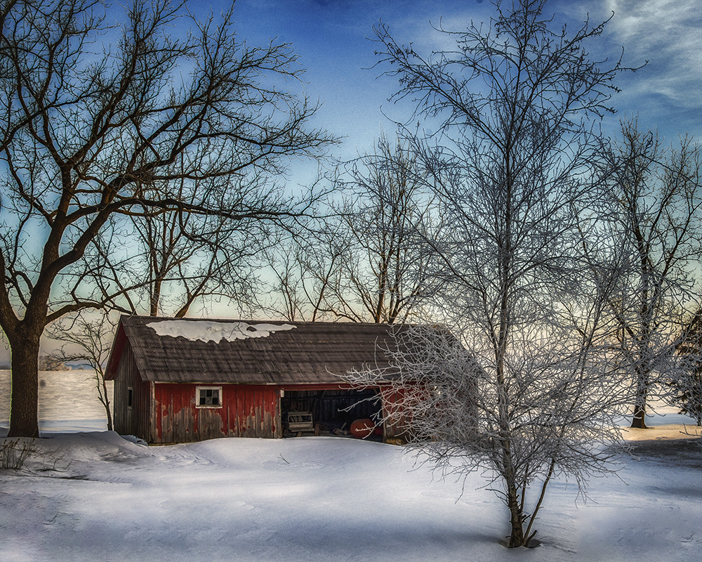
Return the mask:
<path id="1" fill-rule="evenodd" d="M 492 471 L 509 545 L 521 547 L 552 476 L 572 476 L 583 491 L 608 470 L 595 444 L 616 440 L 613 416 L 627 398 L 614 392 L 620 372 L 605 353 L 618 268 L 588 273 L 581 236 L 597 230 L 579 231 L 574 213 L 604 187 L 590 118 L 611 110 L 623 69 L 584 50 L 606 22 L 569 34 L 552 31 L 543 0 L 495 6 L 489 26 L 438 30 L 456 46 L 429 58 L 387 27 L 376 34 L 380 64 L 399 79 L 395 98 L 413 100 L 411 121 L 437 131 L 413 141 L 446 225 L 425 239 L 428 273 L 434 312 L 468 349 L 416 334 L 397 356 L 403 377 L 437 388 L 410 393 L 412 423 L 424 424 L 416 445 L 449 471 Z M 435 419 L 421 415 L 432 402 Z"/>

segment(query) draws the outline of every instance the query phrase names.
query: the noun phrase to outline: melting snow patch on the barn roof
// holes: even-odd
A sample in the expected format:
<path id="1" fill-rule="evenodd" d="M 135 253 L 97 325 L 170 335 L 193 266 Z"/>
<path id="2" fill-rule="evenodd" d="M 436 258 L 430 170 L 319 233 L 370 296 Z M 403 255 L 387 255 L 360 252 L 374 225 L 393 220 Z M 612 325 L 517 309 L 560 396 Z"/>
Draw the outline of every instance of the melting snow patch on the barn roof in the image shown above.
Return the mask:
<path id="1" fill-rule="evenodd" d="M 249 324 L 247 322 L 212 322 L 211 320 L 163 320 L 147 324 L 159 336 L 184 337 L 191 341 L 235 341 L 265 338 L 273 332 L 296 328 L 291 324 Z"/>

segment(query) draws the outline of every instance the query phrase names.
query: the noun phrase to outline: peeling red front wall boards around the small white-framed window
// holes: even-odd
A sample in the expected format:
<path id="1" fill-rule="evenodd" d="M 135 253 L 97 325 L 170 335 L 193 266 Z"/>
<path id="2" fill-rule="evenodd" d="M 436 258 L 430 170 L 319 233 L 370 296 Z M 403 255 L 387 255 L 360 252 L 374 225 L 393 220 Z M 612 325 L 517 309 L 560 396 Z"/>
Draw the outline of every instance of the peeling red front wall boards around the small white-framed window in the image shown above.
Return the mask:
<path id="1" fill-rule="evenodd" d="M 154 443 L 185 443 L 218 437 L 282 437 L 279 388 L 223 384 L 222 407 L 195 405 L 198 384 L 154 386 Z M 220 385 L 217 385 L 220 386 Z"/>

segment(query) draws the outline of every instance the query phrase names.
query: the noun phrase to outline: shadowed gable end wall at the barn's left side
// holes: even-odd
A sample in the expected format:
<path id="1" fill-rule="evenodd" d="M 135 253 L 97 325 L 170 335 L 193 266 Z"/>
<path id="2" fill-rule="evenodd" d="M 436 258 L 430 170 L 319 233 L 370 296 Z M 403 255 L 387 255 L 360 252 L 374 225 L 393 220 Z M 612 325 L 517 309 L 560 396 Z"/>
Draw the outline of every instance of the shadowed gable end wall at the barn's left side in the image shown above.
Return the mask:
<path id="1" fill-rule="evenodd" d="M 114 431 L 133 435 L 146 441 L 151 435 L 151 384 L 143 381 L 134 362 L 131 345 L 127 342 L 114 377 Z M 132 389 L 132 406 L 128 406 L 128 389 Z"/>

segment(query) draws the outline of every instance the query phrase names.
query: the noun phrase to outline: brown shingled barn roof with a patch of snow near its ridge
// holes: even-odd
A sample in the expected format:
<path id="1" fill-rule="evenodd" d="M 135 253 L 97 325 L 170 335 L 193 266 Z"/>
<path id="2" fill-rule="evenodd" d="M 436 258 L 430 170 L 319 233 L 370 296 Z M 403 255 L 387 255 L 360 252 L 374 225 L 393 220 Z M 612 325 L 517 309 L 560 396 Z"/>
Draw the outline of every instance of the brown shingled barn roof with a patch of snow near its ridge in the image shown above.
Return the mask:
<path id="1" fill-rule="evenodd" d="M 123 316 L 106 378 L 128 341 L 145 381 L 235 384 L 338 383 L 364 365 L 388 366 L 390 325 Z"/>

